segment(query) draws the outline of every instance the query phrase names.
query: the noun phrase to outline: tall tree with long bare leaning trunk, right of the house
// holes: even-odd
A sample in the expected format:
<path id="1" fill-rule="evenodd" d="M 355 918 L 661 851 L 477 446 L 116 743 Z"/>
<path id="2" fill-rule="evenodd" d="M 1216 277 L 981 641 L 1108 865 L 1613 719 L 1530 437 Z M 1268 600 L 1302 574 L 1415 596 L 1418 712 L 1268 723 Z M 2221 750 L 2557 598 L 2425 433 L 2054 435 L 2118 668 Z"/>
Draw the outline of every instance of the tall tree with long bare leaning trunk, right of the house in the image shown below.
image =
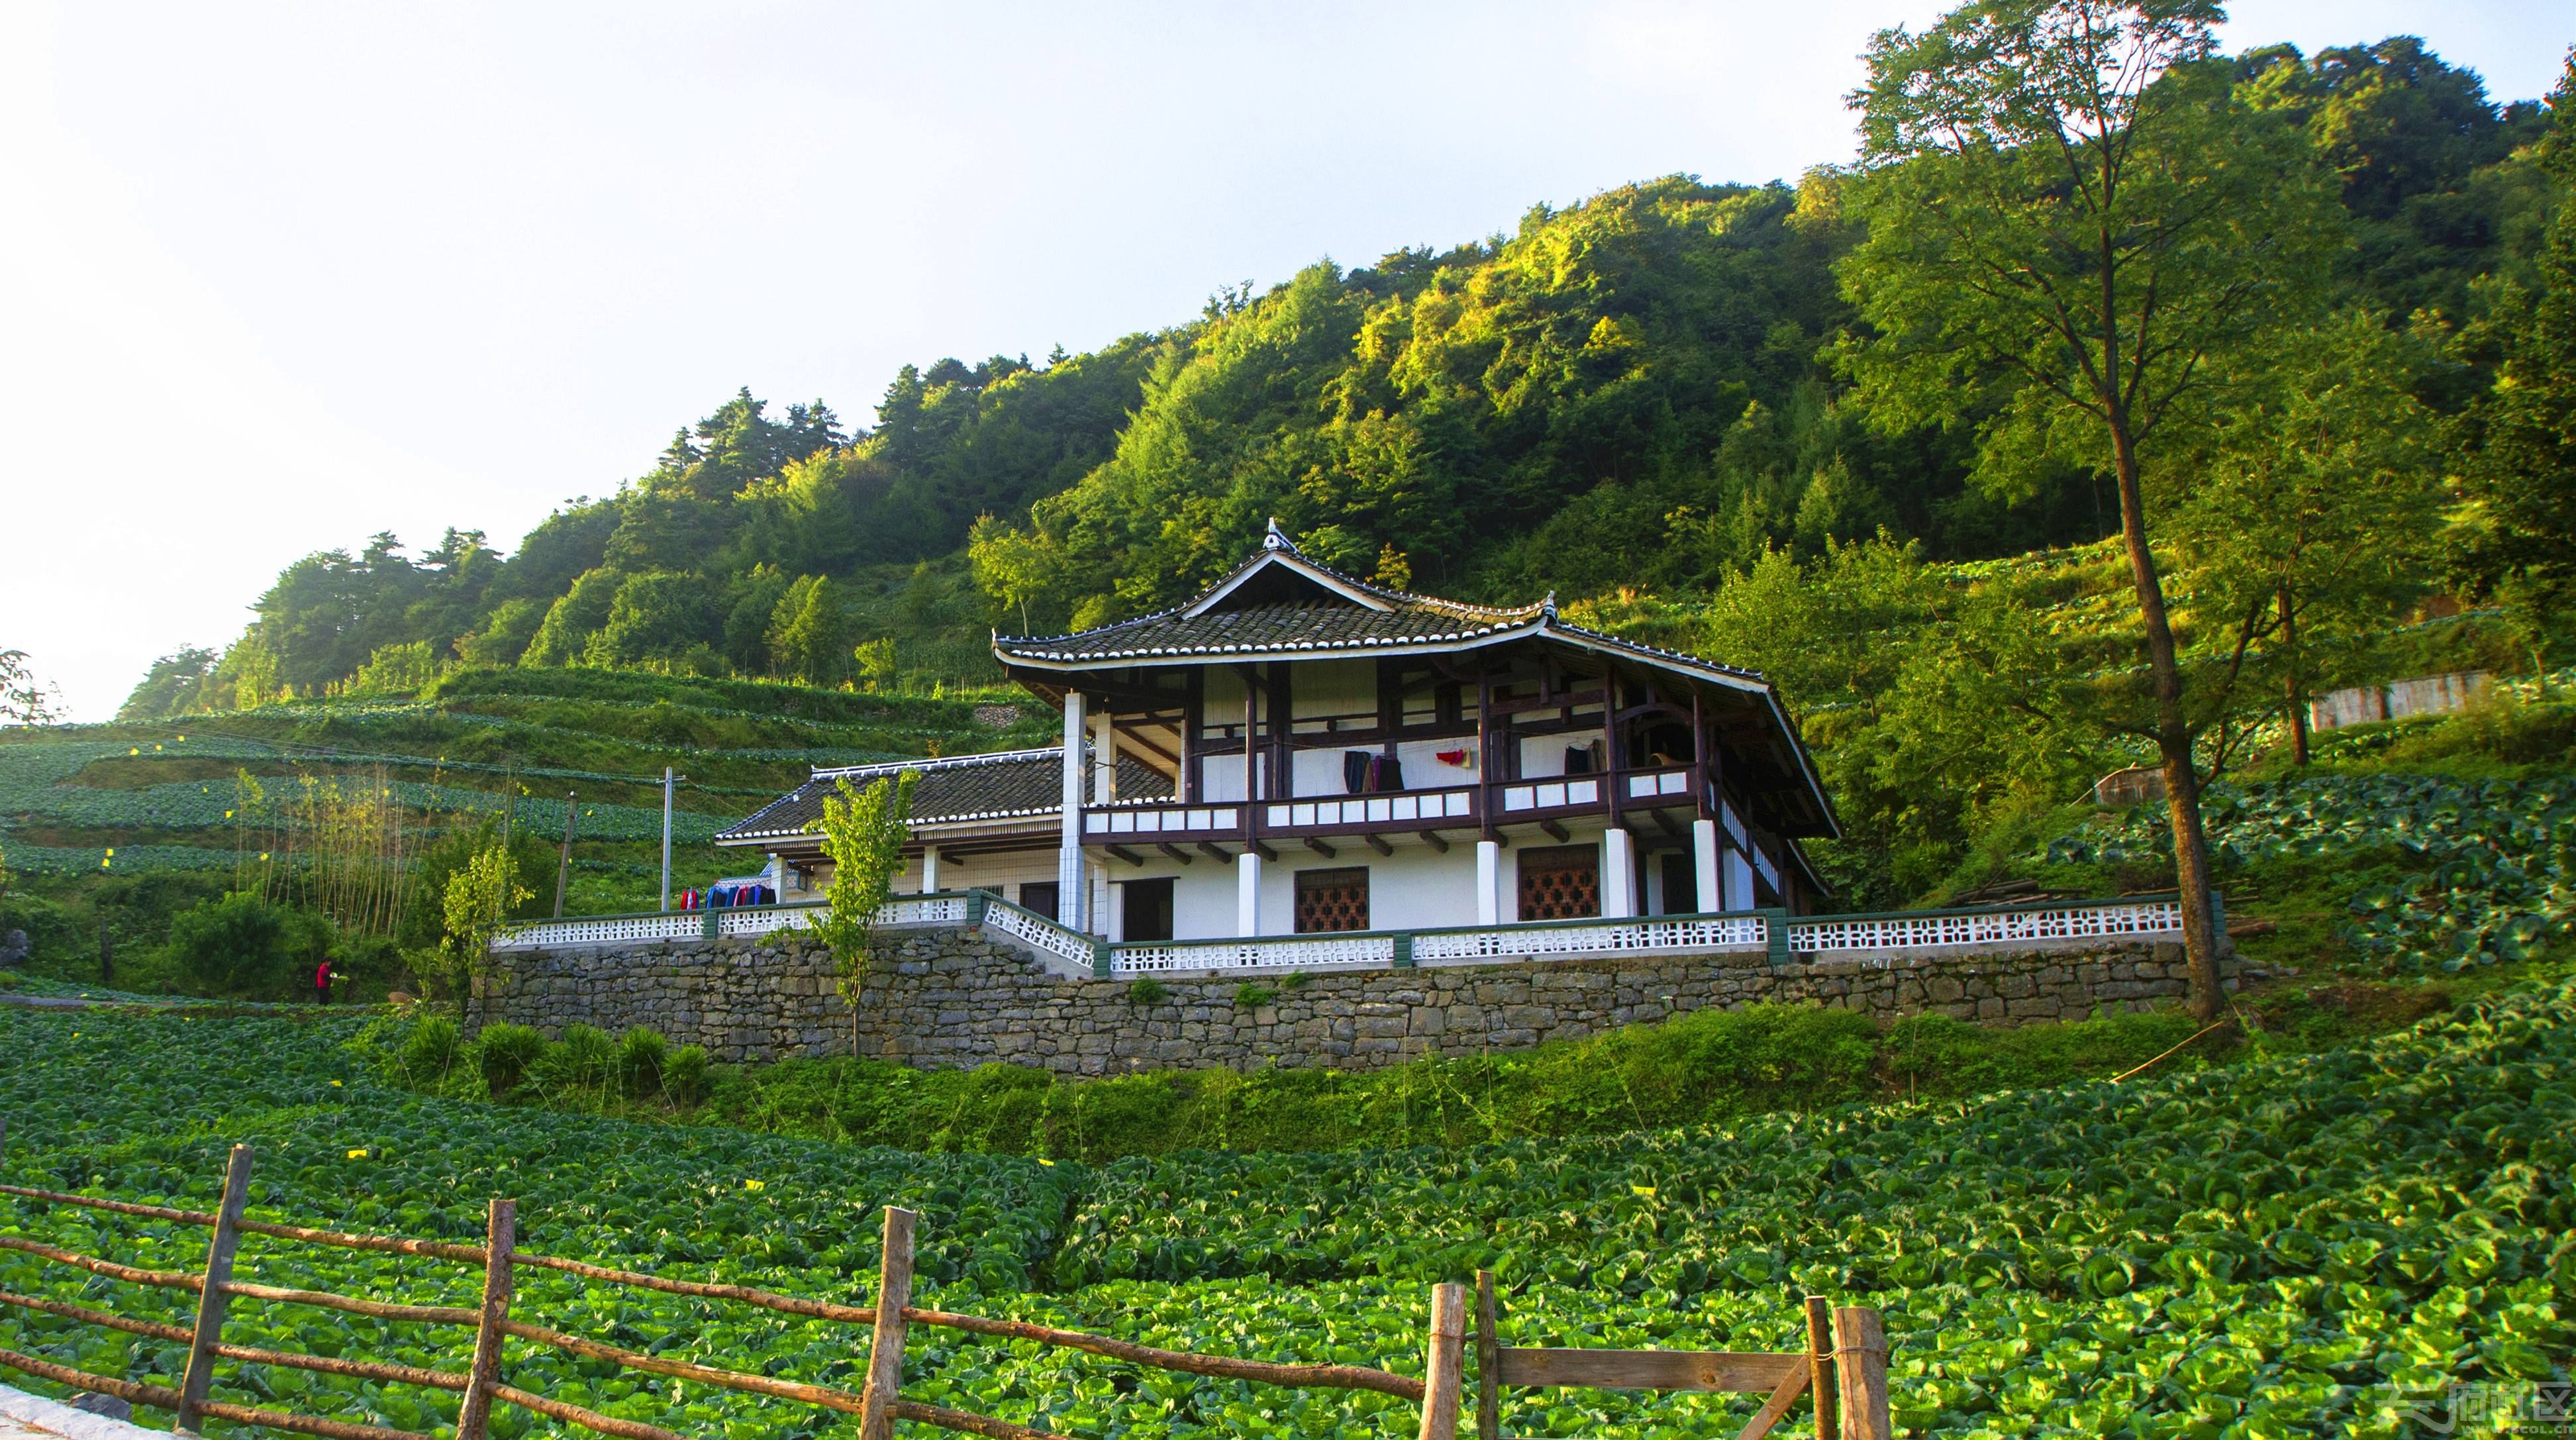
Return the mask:
<path id="1" fill-rule="evenodd" d="M 2210 62 L 2218 21 L 2210 0 L 1973 0 L 1880 31 L 1852 95 L 1870 234 L 1842 268 L 1880 422 L 1981 422 L 1994 487 L 2048 461 L 2117 484 L 2202 1018 L 2218 935 L 2143 482 L 2205 422 L 2213 361 L 2311 312 L 2336 237 L 2306 139 Z"/>

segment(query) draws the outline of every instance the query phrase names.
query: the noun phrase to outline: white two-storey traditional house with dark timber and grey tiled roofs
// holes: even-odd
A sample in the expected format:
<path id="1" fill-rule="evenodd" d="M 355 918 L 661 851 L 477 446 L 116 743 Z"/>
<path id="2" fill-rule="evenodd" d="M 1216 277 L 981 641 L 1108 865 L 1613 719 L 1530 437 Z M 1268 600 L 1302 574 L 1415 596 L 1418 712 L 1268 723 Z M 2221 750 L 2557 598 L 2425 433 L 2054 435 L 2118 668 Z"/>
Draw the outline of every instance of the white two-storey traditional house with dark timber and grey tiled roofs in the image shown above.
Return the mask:
<path id="1" fill-rule="evenodd" d="M 984 889 L 1108 940 L 1788 909 L 1832 804 L 1754 672 L 1556 603 L 1461 605 L 1340 574 L 1278 531 L 1157 616 L 994 639 L 1064 744 L 814 770 L 719 845 L 829 873 L 837 783 L 920 770 L 899 889 Z"/>

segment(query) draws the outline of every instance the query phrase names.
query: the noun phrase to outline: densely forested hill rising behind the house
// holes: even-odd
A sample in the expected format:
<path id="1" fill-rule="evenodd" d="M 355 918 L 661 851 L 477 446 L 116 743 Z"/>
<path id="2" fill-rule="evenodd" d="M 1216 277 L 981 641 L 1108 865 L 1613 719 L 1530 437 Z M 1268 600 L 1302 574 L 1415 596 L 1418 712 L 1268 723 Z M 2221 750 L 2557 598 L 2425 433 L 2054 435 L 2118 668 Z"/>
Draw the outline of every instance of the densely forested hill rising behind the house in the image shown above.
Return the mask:
<path id="1" fill-rule="evenodd" d="M 2460 412 L 2488 386 L 2478 325 L 2517 294 L 2494 278 L 2527 286 L 2555 204 L 2543 108 L 2411 39 L 2231 64 L 2342 175 L 2344 304 L 2442 337 L 2416 389 Z M 1968 482 L 1968 433 L 1870 425 L 1844 394 L 1842 188 L 1664 178 L 1538 206 L 1095 353 L 907 366 L 871 430 L 742 392 L 507 556 L 448 531 L 291 564 L 224 654 L 162 659 L 126 719 L 456 662 L 976 680 L 987 626 L 1164 605 L 1270 515 L 1340 567 L 1471 600 L 1698 592 L 1767 546 L 1880 528 L 1932 559 L 2115 531 L 2094 474 L 1999 497 Z"/>

